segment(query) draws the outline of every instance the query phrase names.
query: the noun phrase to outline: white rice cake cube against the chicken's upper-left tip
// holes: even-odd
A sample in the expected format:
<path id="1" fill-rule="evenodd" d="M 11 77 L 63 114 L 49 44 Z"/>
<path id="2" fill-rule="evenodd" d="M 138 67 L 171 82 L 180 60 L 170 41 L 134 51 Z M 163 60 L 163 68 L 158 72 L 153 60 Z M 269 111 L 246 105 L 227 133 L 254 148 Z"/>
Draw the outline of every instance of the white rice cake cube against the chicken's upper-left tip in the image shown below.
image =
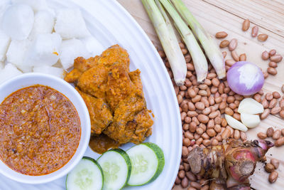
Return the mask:
<path id="1" fill-rule="evenodd" d="M 60 48 L 60 62 L 62 67 L 65 70 L 72 67 L 77 57 L 89 58 L 89 53 L 82 41 L 78 39 L 62 41 Z"/>

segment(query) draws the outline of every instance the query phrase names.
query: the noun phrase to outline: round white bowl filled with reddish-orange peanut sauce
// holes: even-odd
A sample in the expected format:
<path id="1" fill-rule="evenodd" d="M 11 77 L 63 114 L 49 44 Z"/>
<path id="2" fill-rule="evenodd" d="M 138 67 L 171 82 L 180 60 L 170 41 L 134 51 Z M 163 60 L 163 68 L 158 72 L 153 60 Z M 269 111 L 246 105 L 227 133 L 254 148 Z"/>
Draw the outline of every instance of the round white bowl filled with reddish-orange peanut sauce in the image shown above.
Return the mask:
<path id="1" fill-rule="evenodd" d="M 60 78 L 26 73 L 0 85 L 0 172 L 28 184 L 53 181 L 80 162 L 90 120 L 79 93 Z"/>

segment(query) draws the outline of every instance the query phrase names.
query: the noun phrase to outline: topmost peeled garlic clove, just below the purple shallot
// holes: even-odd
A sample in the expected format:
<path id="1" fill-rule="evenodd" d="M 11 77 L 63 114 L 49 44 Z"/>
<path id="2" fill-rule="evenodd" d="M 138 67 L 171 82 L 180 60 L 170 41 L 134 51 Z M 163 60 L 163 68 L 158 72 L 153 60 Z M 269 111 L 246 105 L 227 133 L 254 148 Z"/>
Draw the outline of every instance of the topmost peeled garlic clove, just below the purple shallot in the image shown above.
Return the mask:
<path id="1" fill-rule="evenodd" d="M 238 108 L 239 113 L 258 114 L 263 111 L 263 105 L 256 102 L 256 100 L 253 100 L 251 97 L 246 97 L 244 100 L 241 100 Z"/>

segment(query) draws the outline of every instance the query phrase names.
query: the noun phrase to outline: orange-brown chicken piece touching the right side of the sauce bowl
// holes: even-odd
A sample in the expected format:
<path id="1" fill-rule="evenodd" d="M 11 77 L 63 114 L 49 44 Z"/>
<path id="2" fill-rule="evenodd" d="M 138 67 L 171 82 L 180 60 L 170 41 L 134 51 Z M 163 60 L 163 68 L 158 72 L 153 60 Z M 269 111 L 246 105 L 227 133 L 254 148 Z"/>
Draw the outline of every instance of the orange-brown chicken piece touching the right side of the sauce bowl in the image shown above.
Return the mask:
<path id="1" fill-rule="evenodd" d="M 82 96 L 84 102 L 87 105 L 89 111 L 89 117 L 91 119 L 91 132 L 94 134 L 101 134 L 102 131 L 109 126 L 112 122 L 111 110 L 109 106 L 102 100 L 102 98 L 93 97 L 81 90 L 76 90 Z"/>

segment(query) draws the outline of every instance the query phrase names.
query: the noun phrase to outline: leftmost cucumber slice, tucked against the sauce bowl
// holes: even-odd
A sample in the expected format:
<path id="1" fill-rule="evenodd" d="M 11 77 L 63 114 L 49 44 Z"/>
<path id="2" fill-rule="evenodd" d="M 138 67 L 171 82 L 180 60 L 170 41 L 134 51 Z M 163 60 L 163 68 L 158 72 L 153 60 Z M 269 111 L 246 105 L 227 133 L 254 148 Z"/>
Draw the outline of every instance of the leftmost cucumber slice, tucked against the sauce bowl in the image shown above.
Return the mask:
<path id="1" fill-rule="evenodd" d="M 90 157 L 83 157 L 66 177 L 67 190 L 101 190 L 103 184 L 102 168 Z"/>

